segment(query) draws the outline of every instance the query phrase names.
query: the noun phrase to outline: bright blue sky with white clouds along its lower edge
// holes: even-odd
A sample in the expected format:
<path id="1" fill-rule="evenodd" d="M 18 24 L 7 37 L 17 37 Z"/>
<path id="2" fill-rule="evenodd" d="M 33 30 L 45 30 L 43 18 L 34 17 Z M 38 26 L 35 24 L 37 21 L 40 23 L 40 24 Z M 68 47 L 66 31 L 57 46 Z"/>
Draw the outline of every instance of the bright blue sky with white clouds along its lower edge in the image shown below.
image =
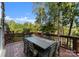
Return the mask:
<path id="1" fill-rule="evenodd" d="M 5 2 L 6 20 L 14 20 L 17 23 L 34 23 L 35 14 L 32 11 L 32 2 Z"/>

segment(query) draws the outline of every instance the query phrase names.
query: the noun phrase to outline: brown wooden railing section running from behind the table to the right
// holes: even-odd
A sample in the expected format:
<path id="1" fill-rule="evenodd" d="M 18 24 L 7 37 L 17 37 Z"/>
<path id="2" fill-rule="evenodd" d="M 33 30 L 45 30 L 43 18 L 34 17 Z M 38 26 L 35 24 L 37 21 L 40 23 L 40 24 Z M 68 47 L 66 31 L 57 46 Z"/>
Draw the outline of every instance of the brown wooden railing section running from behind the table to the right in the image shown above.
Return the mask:
<path id="1" fill-rule="evenodd" d="M 39 35 L 40 34 L 40 35 Z M 50 40 L 61 41 L 61 47 L 79 53 L 79 37 L 49 33 L 37 33 L 38 36 L 49 38 Z"/>

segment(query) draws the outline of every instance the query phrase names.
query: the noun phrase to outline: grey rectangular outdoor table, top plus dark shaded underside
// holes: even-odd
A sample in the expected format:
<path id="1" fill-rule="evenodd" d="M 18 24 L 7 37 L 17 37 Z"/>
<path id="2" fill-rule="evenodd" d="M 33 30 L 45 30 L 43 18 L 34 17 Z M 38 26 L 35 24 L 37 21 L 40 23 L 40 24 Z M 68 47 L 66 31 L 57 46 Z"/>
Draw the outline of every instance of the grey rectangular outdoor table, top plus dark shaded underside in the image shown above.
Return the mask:
<path id="1" fill-rule="evenodd" d="M 41 37 L 38 37 L 38 36 L 25 37 L 25 41 L 28 41 L 28 42 L 34 44 L 35 46 L 40 47 L 41 49 L 38 48 L 39 49 L 38 52 L 42 51 L 41 53 L 43 53 L 44 51 L 47 52 L 48 49 L 50 49 L 50 47 L 54 43 L 56 43 L 55 41 L 48 40 L 48 39 L 45 39 L 45 38 L 41 38 Z"/>

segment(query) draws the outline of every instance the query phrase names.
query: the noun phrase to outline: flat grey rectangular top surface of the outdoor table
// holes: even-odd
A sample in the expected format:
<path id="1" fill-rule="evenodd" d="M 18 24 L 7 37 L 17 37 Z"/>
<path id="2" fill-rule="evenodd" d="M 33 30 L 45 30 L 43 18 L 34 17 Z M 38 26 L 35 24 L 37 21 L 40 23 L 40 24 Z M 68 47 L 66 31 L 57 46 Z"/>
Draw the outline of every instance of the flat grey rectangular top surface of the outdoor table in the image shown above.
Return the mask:
<path id="1" fill-rule="evenodd" d="M 35 45 L 38 45 L 39 47 L 41 47 L 43 49 L 47 49 L 53 43 L 55 43 L 55 41 L 48 40 L 48 39 L 45 39 L 45 38 L 41 38 L 41 37 L 38 37 L 38 36 L 27 37 L 25 39 L 27 39 L 29 42 L 32 42 Z"/>

